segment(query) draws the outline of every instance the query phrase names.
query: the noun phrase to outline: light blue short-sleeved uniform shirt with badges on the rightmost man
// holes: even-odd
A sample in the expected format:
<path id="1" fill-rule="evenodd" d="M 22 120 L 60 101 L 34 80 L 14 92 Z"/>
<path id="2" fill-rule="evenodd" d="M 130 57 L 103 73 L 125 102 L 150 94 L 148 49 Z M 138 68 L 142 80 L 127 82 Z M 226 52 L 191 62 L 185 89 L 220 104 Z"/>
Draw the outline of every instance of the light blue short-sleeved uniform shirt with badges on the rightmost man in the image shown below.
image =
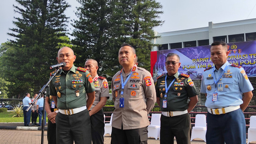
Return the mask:
<path id="1" fill-rule="evenodd" d="M 218 87 L 214 83 L 214 79 L 210 77 L 213 77 L 212 72 L 214 71 L 215 77 L 218 78 L 220 74 L 222 74 L 226 65 L 228 65 L 228 67 L 226 68 L 224 75 L 232 76 L 232 78 L 222 76 L 221 82 L 223 83 L 223 91 L 218 91 Z M 200 92 L 207 94 L 205 102 L 205 106 L 207 108 L 224 108 L 228 106 L 239 106 L 243 103 L 242 93 L 250 92 L 252 90 L 252 84 L 245 74 L 244 68 L 231 66 L 227 61 L 221 68 L 219 68 L 219 70 L 214 66 L 203 73 Z M 217 101 L 212 101 L 212 93 L 214 92 L 218 93 Z"/>

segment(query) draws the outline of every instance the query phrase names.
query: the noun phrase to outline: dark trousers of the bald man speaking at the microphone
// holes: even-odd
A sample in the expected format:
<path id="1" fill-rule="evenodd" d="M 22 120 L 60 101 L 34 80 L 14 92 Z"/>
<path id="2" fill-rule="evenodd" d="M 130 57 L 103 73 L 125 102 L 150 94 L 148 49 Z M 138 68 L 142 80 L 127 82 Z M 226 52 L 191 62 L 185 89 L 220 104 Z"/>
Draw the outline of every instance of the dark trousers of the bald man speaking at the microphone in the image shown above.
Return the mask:
<path id="1" fill-rule="evenodd" d="M 57 144 L 92 144 L 91 121 L 88 110 L 70 116 L 56 116 Z"/>

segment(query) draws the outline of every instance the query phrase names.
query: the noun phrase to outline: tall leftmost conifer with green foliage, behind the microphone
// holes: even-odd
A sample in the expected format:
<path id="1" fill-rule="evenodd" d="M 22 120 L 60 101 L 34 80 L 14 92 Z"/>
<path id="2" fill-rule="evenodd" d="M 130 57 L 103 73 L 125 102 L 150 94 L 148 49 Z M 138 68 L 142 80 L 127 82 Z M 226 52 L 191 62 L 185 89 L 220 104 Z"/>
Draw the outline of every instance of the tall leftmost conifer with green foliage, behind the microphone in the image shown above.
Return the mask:
<path id="1" fill-rule="evenodd" d="M 15 40 L 2 52 L 0 68 L 4 78 L 14 82 L 11 94 L 38 91 L 48 81 L 50 65 L 56 64 L 60 43 L 66 38 L 67 17 L 64 11 L 70 5 L 66 0 L 16 0 L 14 11 L 16 28 L 10 28 Z"/>

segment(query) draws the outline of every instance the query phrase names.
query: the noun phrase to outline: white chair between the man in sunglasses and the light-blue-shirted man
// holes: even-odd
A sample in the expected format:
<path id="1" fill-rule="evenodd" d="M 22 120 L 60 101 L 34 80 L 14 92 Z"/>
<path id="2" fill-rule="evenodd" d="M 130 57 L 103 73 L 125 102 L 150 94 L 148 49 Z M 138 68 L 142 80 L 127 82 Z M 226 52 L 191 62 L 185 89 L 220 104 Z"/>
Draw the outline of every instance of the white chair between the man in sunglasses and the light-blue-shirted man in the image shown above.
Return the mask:
<path id="1" fill-rule="evenodd" d="M 195 126 L 192 128 L 192 134 L 190 141 L 195 138 L 201 138 L 206 142 L 206 116 L 204 114 L 197 114 L 195 120 Z"/>

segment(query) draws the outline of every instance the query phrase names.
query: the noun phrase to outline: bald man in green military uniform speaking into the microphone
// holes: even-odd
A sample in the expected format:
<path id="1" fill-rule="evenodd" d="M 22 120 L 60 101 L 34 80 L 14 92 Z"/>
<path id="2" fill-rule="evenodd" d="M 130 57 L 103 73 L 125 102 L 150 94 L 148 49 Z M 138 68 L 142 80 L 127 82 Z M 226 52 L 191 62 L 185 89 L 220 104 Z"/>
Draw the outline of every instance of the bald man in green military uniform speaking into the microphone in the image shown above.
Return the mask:
<path id="1" fill-rule="evenodd" d="M 76 56 L 71 48 L 61 48 L 57 60 L 58 63 L 66 62 L 50 83 L 50 96 L 59 109 L 56 115 L 57 144 L 91 144 L 88 109 L 95 98 L 92 77 L 85 68 L 73 65 Z"/>

